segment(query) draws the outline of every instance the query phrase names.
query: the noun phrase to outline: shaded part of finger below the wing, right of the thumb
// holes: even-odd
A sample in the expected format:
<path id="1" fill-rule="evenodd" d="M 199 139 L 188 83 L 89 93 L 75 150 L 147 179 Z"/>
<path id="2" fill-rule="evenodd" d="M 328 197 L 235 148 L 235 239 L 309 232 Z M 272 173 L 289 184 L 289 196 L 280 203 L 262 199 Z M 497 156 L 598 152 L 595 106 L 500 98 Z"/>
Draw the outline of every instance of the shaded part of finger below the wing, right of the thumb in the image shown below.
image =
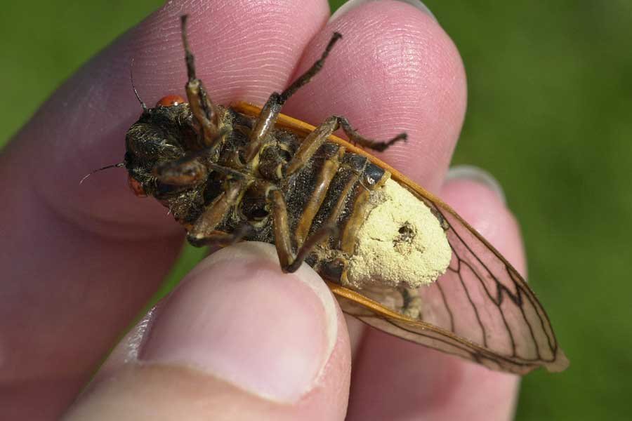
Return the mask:
<path id="1" fill-rule="evenodd" d="M 348 420 L 508 420 L 520 377 L 369 330 Z"/>

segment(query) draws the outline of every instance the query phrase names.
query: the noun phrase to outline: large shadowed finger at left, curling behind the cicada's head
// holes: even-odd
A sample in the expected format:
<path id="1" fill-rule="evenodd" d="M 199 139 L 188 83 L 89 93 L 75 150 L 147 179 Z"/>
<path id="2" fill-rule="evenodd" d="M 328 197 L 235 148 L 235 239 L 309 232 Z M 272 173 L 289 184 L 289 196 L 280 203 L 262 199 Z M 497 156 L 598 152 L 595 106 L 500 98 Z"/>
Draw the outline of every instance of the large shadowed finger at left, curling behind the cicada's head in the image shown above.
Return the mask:
<path id="1" fill-rule="evenodd" d="M 79 180 L 124 156 L 126 128 L 140 115 L 131 58 L 148 103 L 183 92 L 185 12 L 217 102 L 282 88 L 329 13 L 324 0 L 170 1 L 67 81 L 0 156 L 0 265 L 11 280 L 0 293 L 0 406 L 15 419 L 67 406 L 178 253 L 182 229 L 162 206 L 133 197 L 124 171 Z"/>

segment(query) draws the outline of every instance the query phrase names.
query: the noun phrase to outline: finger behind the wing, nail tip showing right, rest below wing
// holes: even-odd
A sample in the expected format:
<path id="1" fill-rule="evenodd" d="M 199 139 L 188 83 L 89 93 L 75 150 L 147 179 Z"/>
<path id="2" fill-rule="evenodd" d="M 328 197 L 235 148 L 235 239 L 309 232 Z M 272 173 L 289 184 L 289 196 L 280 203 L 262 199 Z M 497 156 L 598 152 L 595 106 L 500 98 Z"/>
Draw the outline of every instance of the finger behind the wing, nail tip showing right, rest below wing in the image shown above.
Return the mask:
<path id="1" fill-rule="evenodd" d="M 442 197 L 524 273 L 520 232 L 501 197 L 479 180 L 454 179 Z M 367 332 L 356 356 L 349 420 L 508 420 L 518 376 Z"/>

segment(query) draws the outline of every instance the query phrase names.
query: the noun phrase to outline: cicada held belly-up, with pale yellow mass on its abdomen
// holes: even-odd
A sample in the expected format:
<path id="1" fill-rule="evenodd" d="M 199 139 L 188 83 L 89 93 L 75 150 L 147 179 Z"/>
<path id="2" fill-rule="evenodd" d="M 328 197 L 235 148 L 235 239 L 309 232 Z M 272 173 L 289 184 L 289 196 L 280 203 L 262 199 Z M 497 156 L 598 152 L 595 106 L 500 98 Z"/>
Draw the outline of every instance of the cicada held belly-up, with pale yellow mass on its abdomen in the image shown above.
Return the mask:
<path id="1" fill-rule="evenodd" d="M 308 263 L 344 312 L 386 333 L 494 370 L 567 367 L 544 308 L 507 260 L 446 203 L 365 152 L 405 134 L 380 142 L 343 116 L 314 127 L 280 113 L 340 34 L 262 108 L 224 107 L 195 74 L 186 22 L 187 100 L 168 95 L 148 108 L 138 98 L 143 114 L 126 135 L 138 196 L 169 208 L 194 246 L 275 244 L 284 272 Z M 350 142 L 333 135 L 338 128 Z"/>

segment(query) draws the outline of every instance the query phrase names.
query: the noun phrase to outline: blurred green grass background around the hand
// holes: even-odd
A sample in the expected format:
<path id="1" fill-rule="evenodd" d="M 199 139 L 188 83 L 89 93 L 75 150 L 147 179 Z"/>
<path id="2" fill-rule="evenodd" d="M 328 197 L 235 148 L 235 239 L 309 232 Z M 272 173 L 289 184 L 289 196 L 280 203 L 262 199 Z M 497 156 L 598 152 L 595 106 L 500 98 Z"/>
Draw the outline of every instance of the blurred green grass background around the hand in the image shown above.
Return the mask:
<path id="1" fill-rule="evenodd" d="M 81 63 L 161 3 L 5 2 L 0 145 Z M 522 224 L 530 282 L 571 360 L 565 373 L 525 377 L 518 420 L 627 417 L 632 2 L 426 4 L 468 74 L 454 162 L 486 168 L 503 185 Z M 185 250 L 169 282 L 200 255 Z"/>

